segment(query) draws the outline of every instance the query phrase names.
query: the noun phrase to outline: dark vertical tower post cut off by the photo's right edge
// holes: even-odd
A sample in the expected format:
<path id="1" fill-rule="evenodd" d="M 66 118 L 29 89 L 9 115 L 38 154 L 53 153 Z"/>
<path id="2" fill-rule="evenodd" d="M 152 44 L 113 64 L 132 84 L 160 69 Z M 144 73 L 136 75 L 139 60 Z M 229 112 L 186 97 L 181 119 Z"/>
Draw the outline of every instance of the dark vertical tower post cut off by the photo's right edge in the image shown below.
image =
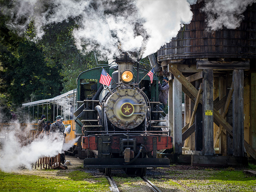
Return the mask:
<path id="1" fill-rule="evenodd" d="M 250 144 L 256 150 L 256 73 L 251 73 L 250 84 Z"/>

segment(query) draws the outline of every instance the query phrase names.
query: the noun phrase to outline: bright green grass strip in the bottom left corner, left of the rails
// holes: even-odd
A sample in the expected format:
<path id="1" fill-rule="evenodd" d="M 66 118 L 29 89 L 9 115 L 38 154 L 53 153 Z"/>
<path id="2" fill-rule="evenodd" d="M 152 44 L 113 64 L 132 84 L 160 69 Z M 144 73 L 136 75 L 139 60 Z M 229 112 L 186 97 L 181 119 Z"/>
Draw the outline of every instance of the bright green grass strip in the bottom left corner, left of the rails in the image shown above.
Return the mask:
<path id="1" fill-rule="evenodd" d="M 66 180 L 0 172 L 0 189 L 1 192 L 109 191 L 109 184 L 105 178 L 94 178 L 79 171 L 71 172 L 68 176 L 69 179 Z M 90 182 L 87 179 L 96 182 Z"/>

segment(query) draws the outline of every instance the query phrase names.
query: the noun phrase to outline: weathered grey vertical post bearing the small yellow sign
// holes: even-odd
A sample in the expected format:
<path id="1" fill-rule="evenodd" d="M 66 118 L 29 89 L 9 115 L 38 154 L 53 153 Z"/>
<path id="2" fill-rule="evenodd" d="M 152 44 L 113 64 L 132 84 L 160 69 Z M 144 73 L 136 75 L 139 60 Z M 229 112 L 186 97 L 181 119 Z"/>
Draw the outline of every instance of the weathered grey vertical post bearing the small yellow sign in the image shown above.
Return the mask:
<path id="1" fill-rule="evenodd" d="M 214 155 L 213 146 L 213 70 L 204 70 L 203 85 L 203 150 Z"/>

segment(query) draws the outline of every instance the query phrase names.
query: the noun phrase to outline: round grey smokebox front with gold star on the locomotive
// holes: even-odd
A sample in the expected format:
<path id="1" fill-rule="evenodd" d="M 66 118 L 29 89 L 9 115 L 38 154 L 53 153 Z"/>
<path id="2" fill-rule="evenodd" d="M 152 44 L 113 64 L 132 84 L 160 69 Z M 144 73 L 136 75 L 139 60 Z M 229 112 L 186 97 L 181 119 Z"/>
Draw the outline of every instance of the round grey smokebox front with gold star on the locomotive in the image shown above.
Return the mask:
<path id="1" fill-rule="evenodd" d="M 117 89 L 106 100 L 106 115 L 114 126 L 129 130 L 146 117 L 146 100 L 136 88 Z"/>

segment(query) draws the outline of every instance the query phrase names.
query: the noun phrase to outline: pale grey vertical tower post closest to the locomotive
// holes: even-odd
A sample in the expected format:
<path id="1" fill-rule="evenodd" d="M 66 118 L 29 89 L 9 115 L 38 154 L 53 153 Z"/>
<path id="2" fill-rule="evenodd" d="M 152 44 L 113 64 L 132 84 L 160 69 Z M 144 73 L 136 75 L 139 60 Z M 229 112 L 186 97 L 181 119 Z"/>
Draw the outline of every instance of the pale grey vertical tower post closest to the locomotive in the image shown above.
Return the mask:
<path id="1" fill-rule="evenodd" d="M 172 94 L 174 153 L 182 154 L 182 84 L 177 77 L 173 80 Z"/>

